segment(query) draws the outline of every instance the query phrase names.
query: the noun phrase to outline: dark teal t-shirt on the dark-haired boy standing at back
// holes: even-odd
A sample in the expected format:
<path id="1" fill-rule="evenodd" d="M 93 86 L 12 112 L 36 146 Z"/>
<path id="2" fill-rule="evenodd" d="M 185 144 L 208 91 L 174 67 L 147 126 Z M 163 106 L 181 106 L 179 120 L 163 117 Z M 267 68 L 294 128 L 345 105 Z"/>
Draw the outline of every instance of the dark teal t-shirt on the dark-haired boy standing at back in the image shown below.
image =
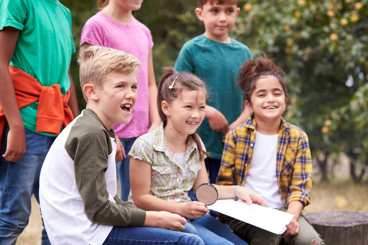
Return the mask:
<path id="1" fill-rule="evenodd" d="M 243 92 L 236 84 L 239 69 L 252 58 L 249 48 L 235 39 L 218 43 L 203 34 L 184 43 L 176 59 L 175 70 L 192 72 L 201 78 L 209 92 L 206 103 L 226 117 L 229 124 L 243 110 Z M 221 159 L 223 133 L 213 131 L 205 118 L 197 132 L 211 158 Z"/>

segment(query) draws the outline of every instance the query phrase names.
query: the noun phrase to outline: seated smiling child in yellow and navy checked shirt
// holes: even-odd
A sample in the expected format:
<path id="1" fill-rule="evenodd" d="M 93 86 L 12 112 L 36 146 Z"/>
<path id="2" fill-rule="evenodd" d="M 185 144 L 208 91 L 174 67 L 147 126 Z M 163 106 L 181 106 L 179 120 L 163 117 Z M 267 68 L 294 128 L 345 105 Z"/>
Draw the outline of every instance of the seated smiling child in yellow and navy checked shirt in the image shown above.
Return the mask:
<path id="1" fill-rule="evenodd" d="M 250 244 L 279 244 L 281 239 L 286 244 L 323 244 L 300 215 L 310 202 L 311 152 L 307 134 L 282 118 L 287 102 L 284 72 L 266 57 L 247 60 L 238 84 L 253 115 L 226 135 L 216 182 L 245 187 L 294 218 L 282 235 L 234 219 L 230 227 Z"/>

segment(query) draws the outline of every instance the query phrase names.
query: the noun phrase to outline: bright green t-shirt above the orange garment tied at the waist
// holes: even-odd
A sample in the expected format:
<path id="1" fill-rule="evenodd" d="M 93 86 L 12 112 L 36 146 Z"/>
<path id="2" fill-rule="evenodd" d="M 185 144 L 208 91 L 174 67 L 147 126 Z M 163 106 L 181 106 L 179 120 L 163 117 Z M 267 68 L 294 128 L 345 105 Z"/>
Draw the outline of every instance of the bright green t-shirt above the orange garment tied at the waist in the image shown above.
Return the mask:
<path id="1" fill-rule="evenodd" d="M 66 94 L 75 52 L 69 9 L 57 0 L 1 0 L 0 13 L 0 30 L 6 26 L 21 30 L 10 65 L 24 70 L 42 86 L 60 84 L 61 93 Z M 24 127 L 33 132 L 37 107 L 35 102 L 20 109 Z"/>

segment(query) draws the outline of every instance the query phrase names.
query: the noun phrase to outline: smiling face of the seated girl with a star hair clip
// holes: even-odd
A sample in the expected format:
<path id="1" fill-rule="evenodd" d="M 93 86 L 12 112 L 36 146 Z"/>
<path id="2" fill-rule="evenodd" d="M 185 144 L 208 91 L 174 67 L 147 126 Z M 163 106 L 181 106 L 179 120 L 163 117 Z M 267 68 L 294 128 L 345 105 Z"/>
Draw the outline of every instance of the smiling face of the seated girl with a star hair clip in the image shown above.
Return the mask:
<path id="1" fill-rule="evenodd" d="M 193 134 L 205 117 L 206 93 L 202 90 L 182 90 L 181 96 L 170 104 L 162 102 L 167 116 L 166 127 L 183 135 Z"/>

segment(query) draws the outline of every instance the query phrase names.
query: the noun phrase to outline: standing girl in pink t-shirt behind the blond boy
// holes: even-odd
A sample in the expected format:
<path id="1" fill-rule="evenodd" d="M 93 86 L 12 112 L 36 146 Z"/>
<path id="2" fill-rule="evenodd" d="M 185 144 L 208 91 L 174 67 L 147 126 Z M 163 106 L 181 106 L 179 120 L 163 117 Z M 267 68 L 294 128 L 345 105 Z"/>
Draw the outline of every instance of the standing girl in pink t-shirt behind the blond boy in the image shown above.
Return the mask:
<path id="1" fill-rule="evenodd" d="M 151 32 L 132 16 L 132 11 L 141 8 L 143 0 L 98 0 L 100 12 L 88 19 L 82 29 L 80 45 L 112 47 L 133 54 L 141 61 L 138 68 L 138 95 L 129 124 L 116 124 L 116 161 L 120 179 L 121 199 L 126 201 L 130 191 L 129 158 L 135 139 L 160 125 L 156 106 L 157 86 L 153 72 Z M 150 127 L 151 125 L 151 127 Z M 123 161 L 121 161 L 123 160 Z M 121 166 L 121 167 L 120 167 Z"/>

